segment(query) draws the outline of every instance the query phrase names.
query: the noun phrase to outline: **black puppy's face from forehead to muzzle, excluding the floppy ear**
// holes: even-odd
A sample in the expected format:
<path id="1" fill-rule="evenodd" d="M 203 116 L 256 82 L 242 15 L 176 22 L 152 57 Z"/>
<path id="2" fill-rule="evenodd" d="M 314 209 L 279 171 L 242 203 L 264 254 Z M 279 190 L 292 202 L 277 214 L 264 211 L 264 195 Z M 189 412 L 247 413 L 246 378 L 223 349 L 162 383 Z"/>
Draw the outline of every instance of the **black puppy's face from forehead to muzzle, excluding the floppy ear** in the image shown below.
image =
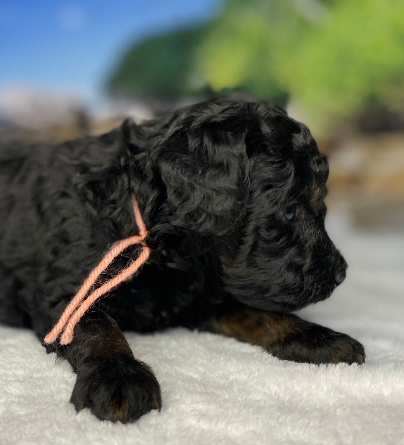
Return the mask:
<path id="1" fill-rule="evenodd" d="M 291 311 L 331 295 L 346 263 L 324 228 L 328 162 L 306 126 L 261 108 L 246 138 L 249 200 L 228 291 L 248 305 Z"/>

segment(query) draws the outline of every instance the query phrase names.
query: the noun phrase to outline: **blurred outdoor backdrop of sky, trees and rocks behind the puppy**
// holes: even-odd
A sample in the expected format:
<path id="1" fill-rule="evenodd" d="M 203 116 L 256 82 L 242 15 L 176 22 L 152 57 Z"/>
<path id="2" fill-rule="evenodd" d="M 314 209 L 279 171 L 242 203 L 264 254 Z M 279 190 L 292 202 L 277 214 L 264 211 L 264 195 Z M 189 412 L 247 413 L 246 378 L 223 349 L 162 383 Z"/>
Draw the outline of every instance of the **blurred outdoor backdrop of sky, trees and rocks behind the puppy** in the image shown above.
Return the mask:
<path id="1" fill-rule="evenodd" d="M 0 0 L 0 66 L 0 127 L 32 140 L 267 98 L 328 154 L 329 209 L 402 234 L 402 0 Z"/>

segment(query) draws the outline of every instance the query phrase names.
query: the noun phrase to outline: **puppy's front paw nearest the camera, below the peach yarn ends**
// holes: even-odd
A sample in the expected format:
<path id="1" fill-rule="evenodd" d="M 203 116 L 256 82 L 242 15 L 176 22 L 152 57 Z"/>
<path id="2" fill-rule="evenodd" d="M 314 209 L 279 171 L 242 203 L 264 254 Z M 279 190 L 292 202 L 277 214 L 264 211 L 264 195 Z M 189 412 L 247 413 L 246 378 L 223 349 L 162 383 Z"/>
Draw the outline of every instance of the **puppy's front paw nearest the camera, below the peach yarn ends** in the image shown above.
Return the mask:
<path id="1" fill-rule="evenodd" d="M 130 423 L 161 408 L 160 385 L 150 368 L 133 358 L 97 359 L 80 366 L 70 402 L 100 420 Z"/>

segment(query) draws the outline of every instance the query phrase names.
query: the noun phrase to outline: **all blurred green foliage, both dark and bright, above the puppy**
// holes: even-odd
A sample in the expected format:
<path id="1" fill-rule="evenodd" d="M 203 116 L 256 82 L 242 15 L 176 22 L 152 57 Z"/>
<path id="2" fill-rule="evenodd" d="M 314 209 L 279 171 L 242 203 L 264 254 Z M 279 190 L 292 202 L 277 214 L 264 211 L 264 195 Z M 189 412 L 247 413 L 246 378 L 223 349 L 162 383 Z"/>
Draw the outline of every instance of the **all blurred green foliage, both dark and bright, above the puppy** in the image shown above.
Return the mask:
<path id="1" fill-rule="evenodd" d="M 321 124 L 401 109 L 403 0 L 224 0 L 211 23 L 137 44 L 109 83 L 165 100 L 207 86 L 289 96 Z"/>

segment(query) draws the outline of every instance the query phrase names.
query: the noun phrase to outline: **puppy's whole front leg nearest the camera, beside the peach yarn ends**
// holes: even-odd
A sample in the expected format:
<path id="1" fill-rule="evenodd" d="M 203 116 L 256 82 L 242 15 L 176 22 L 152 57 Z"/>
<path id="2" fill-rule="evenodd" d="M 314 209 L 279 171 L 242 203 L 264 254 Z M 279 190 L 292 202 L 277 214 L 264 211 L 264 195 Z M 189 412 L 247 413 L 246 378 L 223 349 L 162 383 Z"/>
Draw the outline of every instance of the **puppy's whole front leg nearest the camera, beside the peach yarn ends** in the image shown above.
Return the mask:
<path id="1" fill-rule="evenodd" d="M 56 346 L 77 373 L 70 402 L 101 420 L 133 422 L 161 408 L 160 386 L 151 369 L 136 360 L 118 324 L 93 308 L 74 329 L 71 344 Z"/>

